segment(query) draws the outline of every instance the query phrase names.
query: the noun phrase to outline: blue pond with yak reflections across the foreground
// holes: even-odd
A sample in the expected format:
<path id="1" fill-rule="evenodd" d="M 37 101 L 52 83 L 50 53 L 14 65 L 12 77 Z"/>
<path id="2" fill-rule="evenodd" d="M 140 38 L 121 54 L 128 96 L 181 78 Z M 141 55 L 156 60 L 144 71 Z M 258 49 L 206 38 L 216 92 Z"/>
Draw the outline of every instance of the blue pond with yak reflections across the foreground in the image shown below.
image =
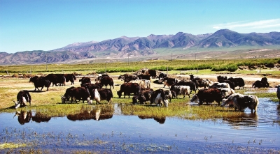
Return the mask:
<path id="1" fill-rule="evenodd" d="M 255 114 L 245 109 L 214 121 L 127 116 L 120 104 L 64 117 L 18 110 L 0 114 L 0 144 L 50 153 L 279 153 L 280 111 L 269 99 L 259 100 Z M 0 153 L 9 151 L 15 149 L 0 146 Z"/>

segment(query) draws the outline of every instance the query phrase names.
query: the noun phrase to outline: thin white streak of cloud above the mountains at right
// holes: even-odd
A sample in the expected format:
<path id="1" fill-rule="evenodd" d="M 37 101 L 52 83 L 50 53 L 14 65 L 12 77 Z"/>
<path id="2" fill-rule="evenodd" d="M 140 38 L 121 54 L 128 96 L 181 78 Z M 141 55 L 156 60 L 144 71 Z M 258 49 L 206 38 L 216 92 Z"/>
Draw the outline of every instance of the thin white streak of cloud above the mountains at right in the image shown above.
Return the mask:
<path id="1" fill-rule="evenodd" d="M 260 20 L 255 22 L 231 22 L 228 24 L 216 24 L 213 29 L 271 29 L 280 28 L 280 19 Z"/>

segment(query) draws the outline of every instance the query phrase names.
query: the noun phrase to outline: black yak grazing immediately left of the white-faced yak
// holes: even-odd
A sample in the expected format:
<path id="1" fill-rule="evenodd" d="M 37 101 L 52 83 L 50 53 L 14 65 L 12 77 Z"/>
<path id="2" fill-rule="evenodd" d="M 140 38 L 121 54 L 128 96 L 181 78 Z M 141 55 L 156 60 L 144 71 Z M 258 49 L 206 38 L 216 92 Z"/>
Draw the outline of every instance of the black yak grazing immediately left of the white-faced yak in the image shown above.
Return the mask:
<path id="1" fill-rule="evenodd" d="M 71 102 L 74 100 L 76 103 L 78 103 L 77 100 L 83 100 L 83 102 L 87 100 L 87 104 L 92 104 L 92 100 L 90 100 L 90 91 L 88 91 L 88 88 L 75 88 L 73 86 L 67 88 L 66 92 L 62 96 L 62 103 L 65 103 L 66 100 L 69 100 L 69 98 L 71 98 Z"/>

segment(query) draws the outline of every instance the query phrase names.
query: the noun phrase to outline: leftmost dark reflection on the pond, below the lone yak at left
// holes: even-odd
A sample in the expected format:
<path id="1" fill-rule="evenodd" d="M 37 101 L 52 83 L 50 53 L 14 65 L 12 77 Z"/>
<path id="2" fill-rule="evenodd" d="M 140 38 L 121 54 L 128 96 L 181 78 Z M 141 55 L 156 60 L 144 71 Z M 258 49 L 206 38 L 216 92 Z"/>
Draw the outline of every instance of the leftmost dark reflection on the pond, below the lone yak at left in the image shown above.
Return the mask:
<path id="1" fill-rule="evenodd" d="M 50 121 L 50 116 L 36 112 L 35 116 L 32 116 L 31 111 L 16 111 L 15 116 L 18 116 L 18 123 L 25 125 L 29 123 L 30 120 L 35 121 L 36 123 L 48 122 Z M 13 116 L 13 117 L 15 117 Z"/>

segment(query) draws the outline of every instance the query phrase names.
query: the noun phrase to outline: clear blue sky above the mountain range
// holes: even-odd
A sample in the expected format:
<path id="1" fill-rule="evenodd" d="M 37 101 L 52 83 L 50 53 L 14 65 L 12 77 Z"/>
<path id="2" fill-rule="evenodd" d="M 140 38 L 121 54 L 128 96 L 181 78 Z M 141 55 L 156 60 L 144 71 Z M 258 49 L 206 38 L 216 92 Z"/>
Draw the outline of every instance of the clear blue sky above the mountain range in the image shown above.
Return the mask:
<path id="1" fill-rule="evenodd" d="M 0 0 L 0 52 L 219 29 L 280 32 L 280 1 Z"/>

